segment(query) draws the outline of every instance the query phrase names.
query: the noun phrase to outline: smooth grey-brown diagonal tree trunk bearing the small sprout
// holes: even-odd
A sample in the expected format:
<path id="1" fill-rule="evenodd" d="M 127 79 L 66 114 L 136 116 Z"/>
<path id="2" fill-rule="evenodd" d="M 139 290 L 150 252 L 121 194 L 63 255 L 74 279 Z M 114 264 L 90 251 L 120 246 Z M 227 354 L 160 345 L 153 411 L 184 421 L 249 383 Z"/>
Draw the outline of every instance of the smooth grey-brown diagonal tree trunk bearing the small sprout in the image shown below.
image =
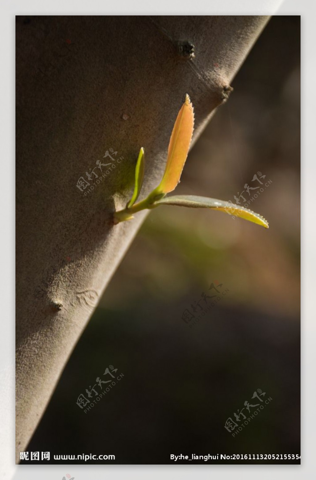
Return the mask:
<path id="1" fill-rule="evenodd" d="M 112 223 L 132 192 L 140 147 L 145 195 L 161 179 L 184 95 L 195 107 L 196 141 L 268 20 L 17 17 L 17 461 L 144 219 Z M 111 161 L 110 148 L 116 167 L 101 173 L 96 161 Z M 76 186 L 86 172 L 89 193 Z"/>

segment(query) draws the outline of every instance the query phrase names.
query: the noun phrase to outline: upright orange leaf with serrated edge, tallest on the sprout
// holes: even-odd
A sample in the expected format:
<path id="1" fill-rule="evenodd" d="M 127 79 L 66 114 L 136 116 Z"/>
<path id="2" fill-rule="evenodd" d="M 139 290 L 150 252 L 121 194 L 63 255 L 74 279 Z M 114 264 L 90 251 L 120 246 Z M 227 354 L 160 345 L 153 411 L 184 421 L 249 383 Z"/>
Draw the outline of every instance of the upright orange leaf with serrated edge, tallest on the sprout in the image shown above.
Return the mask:
<path id="1" fill-rule="evenodd" d="M 168 157 L 164 176 L 153 192 L 168 193 L 174 190 L 180 180 L 192 140 L 194 113 L 190 97 L 179 110 L 168 146 Z"/>

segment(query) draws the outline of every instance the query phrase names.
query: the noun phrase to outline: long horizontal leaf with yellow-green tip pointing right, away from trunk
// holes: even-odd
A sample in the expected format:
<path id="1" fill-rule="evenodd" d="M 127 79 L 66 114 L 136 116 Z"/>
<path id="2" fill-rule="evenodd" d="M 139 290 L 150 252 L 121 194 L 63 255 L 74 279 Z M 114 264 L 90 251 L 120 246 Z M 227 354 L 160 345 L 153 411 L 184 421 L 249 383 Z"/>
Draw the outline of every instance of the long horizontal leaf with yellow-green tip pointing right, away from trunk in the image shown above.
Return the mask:
<path id="1" fill-rule="evenodd" d="M 195 195 L 174 195 L 158 200 L 154 205 L 179 205 L 191 208 L 213 208 L 221 212 L 226 212 L 229 215 L 239 216 L 249 222 L 257 223 L 264 228 L 269 228 L 269 223 L 263 216 L 248 210 L 245 207 L 235 205 L 224 200 L 217 200 L 216 198 L 198 197 Z"/>

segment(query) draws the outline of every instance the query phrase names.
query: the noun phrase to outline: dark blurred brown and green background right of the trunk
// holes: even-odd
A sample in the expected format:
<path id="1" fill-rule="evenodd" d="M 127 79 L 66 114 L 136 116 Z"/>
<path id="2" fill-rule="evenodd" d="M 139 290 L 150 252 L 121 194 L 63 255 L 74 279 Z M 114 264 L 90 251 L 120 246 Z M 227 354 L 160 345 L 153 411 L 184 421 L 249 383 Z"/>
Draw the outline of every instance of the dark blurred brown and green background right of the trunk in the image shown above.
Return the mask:
<path id="1" fill-rule="evenodd" d="M 181 453 L 300 454 L 299 16 L 270 20 L 232 86 L 191 150 L 177 194 L 235 203 L 257 192 L 249 197 L 244 185 L 260 186 L 250 209 L 269 230 L 203 209 L 150 213 L 27 448 L 50 451 L 50 463 L 65 463 L 54 454 L 81 453 L 116 456 L 99 464 L 168 464 Z M 263 185 L 252 182 L 257 172 Z M 201 296 L 214 295 L 212 283 L 221 300 L 197 322 L 199 305 L 213 301 Z M 115 385 L 85 413 L 78 396 L 87 398 L 97 377 L 112 380 L 103 376 L 110 365 Z M 251 399 L 257 390 L 266 395 L 255 416 L 244 404 L 260 403 Z M 228 432 L 225 422 L 236 423 L 242 408 L 254 418 L 233 436 L 237 428 Z"/>

